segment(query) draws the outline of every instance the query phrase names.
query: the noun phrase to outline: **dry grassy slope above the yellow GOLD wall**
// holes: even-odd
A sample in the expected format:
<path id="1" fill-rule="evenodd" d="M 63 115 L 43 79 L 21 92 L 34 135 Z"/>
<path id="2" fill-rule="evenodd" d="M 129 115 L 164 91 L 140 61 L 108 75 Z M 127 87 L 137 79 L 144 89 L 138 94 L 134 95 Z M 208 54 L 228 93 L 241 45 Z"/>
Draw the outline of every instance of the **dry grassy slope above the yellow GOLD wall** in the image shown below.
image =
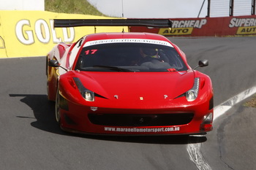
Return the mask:
<path id="1" fill-rule="evenodd" d="M 45 11 L 105 16 L 86 0 L 45 0 Z"/>

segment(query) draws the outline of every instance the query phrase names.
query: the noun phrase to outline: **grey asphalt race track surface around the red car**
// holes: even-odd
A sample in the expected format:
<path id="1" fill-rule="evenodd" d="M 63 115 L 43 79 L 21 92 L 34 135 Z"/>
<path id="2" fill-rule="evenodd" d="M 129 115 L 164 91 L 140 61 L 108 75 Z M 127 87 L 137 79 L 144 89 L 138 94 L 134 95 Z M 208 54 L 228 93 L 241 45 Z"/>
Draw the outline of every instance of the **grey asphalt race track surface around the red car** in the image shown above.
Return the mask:
<path id="1" fill-rule="evenodd" d="M 209 60 L 198 70 L 213 81 L 215 106 L 256 85 L 256 37 L 170 39 L 190 66 Z M 241 103 L 206 136 L 65 134 L 47 101 L 44 57 L 0 59 L 0 72 L 0 169 L 256 169 L 256 110 Z M 190 145 L 200 146 L 200 167 Z"/>

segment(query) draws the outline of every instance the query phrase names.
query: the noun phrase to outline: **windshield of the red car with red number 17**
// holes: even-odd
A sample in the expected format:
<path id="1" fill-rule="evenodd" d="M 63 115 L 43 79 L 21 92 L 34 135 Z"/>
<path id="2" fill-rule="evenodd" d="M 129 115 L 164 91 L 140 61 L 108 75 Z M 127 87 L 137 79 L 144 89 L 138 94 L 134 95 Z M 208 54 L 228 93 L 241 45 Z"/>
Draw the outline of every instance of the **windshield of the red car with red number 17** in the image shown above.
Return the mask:
<path id="1" fill-rule="evenodd" d="M 75 69 L 91 72 L 186 71 L 176 50 L 149 43 L 107 43 L 83 47 Z"/>

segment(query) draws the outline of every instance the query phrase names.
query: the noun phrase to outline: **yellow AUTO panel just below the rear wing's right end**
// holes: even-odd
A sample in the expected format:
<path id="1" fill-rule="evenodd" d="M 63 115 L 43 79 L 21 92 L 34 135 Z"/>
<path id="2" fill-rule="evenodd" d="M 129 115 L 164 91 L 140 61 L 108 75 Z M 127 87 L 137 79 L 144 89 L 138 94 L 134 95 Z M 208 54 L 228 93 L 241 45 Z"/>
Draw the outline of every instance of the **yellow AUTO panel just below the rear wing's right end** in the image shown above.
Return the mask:
<path id="1" fill-rule="evenodd" d="M 181 36 L 192 34 L 193 28 L 160 28 L 159 33 L 164 36 Z"/>

